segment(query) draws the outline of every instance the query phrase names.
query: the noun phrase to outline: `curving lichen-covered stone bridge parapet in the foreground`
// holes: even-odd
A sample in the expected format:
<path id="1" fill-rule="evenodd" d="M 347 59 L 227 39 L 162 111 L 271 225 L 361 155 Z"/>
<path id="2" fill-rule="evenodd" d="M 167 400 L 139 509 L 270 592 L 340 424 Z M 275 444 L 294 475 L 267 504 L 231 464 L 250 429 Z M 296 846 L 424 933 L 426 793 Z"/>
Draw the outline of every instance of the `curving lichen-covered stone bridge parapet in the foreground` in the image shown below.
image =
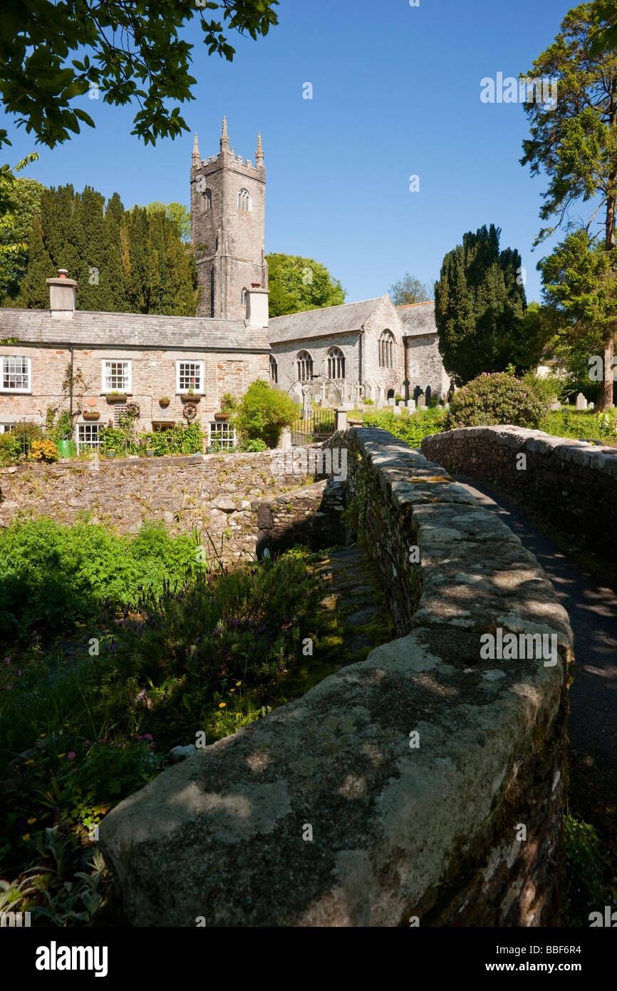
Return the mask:
<path id="1" fill-rule="evenodd" d="M 519 539 L 442 467 L 385 430 L 331 443 L 348 449 L 346 518 L 365 532 L 398 636 L 106 817 L 101 847 L 125 916 L 550 925 L 566 612 Z M 481 659 L 480 636 L 508 632 L 555 637 L 555 653 Z"/>

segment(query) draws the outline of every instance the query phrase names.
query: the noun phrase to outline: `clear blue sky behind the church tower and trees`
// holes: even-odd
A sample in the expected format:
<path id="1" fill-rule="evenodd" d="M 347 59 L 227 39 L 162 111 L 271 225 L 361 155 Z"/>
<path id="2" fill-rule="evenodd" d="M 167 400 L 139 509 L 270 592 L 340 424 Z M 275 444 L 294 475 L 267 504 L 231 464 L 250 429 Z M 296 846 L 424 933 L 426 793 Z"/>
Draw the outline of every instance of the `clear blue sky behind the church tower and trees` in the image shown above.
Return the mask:
<path id="1" fill-rule="evenodd" d="M 126 207 L 188 203 L 192 131 L 202 158 L 231 145 L 266 166 L 266 251 L 324 263 L 347 300 L 387 291 L 406 271 L 430 283 L 446 252 L 482 224 L 517 248 L 528 299 L 540 298 L 531 248 L 545 176 L 519 165 L 528 135 L 521 104 L 480 102 L 480 79 L 516 76 L 553 41 L 573 3 L 559 0 L 281 0 L 280 24 L 257 42 L 235 36 L 233 62 L 208 56 L 195 26 L 191 134 L 145 148 L 130 132 L 137 108 L 81 100 L 96 130 L 53 151 L 10 123 L 13 147 L 41 159 L 26 173 L 47 185 L 88 183 Z M 313 98 L 303 99 L 312 83 Z M 11 121 L 6 117 L 7 122 Z M 7 126 L 7 123 L 2 124 Z M 418 175 L 419 192 L 409 177 Z"/>

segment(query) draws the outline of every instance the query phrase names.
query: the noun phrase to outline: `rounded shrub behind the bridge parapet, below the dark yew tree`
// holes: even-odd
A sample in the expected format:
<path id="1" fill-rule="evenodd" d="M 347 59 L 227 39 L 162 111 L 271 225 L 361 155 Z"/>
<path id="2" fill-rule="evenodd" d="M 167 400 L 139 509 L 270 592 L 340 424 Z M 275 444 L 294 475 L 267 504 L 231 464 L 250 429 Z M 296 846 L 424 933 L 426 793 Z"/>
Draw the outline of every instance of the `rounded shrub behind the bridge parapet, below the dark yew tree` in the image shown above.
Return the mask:
<path id="1" fill-rule="evenodd" d="M 446 429 L 508 423 L 538 427 L 548 411 L 535 392 L 520 379 L 497 372 L 483 373 L 455 392 L 446 417 Z"/>

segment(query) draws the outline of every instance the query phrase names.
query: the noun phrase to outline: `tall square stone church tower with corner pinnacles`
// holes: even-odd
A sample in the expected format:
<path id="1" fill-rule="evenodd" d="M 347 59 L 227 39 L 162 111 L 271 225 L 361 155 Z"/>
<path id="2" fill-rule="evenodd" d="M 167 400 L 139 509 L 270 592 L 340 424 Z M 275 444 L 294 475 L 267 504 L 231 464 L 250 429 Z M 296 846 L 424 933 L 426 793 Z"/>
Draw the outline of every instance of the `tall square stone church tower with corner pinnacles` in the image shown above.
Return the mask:
<path id="1" fill-rule="evenodd" d="M 265 263 L 265 168 L 261 135 L 255 165 L 230 151 L 223 118 L 219 154 L 199 157 L 197 135 L 191 164 L 191 244 L 203 292 L 198 316 L 233 320 L 247 315 L 245 295 L 255 283 L 267 288 Z"/>

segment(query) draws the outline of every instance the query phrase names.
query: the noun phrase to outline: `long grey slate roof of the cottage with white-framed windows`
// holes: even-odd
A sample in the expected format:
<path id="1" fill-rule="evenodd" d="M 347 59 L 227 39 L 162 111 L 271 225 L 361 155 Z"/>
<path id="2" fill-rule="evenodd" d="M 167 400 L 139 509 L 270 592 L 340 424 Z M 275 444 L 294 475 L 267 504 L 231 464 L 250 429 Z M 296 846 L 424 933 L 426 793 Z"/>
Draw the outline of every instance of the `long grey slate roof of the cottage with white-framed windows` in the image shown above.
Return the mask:
<path id="1" fill-rule="evenodd" d="M 75 310 L 72 319 L 55 319 L 50 310 L 0 308 L 0 337 L 26 344 L 81 347 L 161 348 L 191 351 L 269 351 L 265 328 L 249 330 L 244 320 L 163 316 L 146 313 L 97 313 Z"/>

